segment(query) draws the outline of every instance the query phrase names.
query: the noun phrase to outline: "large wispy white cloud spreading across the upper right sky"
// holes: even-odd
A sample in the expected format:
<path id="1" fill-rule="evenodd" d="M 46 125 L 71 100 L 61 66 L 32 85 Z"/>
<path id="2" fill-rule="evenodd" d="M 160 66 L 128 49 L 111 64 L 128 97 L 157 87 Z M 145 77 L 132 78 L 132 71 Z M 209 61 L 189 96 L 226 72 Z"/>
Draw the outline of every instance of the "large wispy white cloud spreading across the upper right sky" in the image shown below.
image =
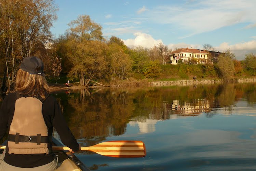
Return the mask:
<path id="1" fill-rule="evenodd" d="M 157 6 L 147 16 L 152 22 L 189 31 L 184 36 L 189 37 L 239 23 L 256 27 L 255 4 L 255 0 L 189 0 L 184 5 Z"/>

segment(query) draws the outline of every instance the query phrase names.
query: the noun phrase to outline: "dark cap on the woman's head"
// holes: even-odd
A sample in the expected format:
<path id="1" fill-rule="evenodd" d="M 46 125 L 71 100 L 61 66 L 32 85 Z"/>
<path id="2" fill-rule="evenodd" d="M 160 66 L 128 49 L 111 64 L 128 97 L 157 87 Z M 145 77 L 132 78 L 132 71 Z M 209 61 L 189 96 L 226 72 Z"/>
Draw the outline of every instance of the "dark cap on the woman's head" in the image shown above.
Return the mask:
<path id="1" fill-rule="evenodd" d="M 43 72 L 43 62 L 35 56 L 24 58 L 19 68 L 23 71 L 29 72 L 30 74 L 45 76 Z"/>

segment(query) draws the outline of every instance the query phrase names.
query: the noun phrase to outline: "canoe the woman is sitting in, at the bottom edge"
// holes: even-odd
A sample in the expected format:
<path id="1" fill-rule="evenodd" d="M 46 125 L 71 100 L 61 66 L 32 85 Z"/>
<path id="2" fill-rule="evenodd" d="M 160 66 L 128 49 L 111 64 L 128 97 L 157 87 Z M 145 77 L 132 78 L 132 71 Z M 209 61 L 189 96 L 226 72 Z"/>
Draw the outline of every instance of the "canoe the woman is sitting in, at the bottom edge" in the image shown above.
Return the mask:
<path id="1" fill-rule="evenodd" d="M 52 138 L 53 146 L 63 146 L 58 140 L 56 140 L 54 137 Z M 2 145 L 6 145 L 7 141 L 5 141 Z M 77 158 L 76 155 L 74 155 L 71 152 L 58 150 L 53 151 L 58 155 L 58 162 L 61 164 L 56 171 L 90 171 L 84 163 Z M 0 154 L 3 153 L 3 149 L 0 149 Z"/>

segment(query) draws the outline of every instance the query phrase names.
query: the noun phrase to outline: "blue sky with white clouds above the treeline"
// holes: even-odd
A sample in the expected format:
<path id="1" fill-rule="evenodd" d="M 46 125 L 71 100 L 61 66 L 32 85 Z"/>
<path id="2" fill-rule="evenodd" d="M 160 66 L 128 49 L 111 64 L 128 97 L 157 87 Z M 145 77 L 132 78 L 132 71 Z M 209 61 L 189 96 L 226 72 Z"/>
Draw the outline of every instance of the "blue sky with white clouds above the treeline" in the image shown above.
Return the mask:
<path id="1" fill-rule="evenodd" d="M 231 49 L 238 60 L 256 54 L 256 0 L 55 0 L 55 37 L 79 15 L 102 26 L 103 36 L 127 46 Z"/>

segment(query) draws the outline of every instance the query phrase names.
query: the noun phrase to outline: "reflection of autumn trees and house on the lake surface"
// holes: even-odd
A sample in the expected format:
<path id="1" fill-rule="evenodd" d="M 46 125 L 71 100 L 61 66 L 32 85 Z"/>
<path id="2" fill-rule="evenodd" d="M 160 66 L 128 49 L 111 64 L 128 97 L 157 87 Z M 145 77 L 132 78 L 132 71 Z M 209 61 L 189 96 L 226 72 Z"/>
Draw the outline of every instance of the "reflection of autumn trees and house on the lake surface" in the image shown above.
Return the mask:
<path id="1" fill-rule="evenodd" d="M 212 117 L 219 112 L 229 115 L 238 110 L 237 102 L 241 99 L 255 104 L 255 89 L 256 84 L 250 83 L 197 85 L 196 88 L 81 89 L 55 94 L 72 132 L 90 145 L 111 135 L 124 134 L 127 124 L 138 125 L 140 133 L 149 133 L 156 130 L 155 125 L 161 120 L 201 114 Z"/>

